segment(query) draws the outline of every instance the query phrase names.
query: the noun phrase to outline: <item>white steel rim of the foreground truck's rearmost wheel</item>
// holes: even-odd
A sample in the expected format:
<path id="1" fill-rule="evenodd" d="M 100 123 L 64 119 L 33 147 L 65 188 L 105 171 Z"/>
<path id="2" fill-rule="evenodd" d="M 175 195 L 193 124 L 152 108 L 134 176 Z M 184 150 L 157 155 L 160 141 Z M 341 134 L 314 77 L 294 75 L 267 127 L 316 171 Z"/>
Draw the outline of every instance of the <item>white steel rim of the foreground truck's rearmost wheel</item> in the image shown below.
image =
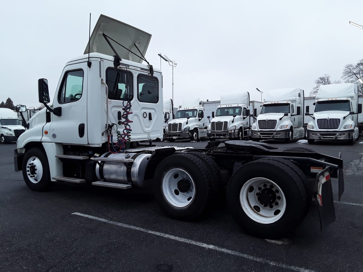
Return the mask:
<path id="1" fill-rule="evenodd" d="M 271 224 L 285 213 L 286 198 L 281 188 L 267 178 L 252 178 L 241 188 L 240 203 L 253 221 Z"/>

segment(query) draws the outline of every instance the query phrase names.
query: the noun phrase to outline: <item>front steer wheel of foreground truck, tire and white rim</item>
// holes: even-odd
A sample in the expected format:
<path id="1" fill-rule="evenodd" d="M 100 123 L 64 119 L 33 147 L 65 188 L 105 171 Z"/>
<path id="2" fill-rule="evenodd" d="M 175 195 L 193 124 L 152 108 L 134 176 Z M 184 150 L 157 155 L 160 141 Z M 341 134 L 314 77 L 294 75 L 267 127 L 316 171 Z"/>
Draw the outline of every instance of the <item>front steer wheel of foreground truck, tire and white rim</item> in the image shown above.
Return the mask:
<path id="1" fill-rule="evenodd" d="M 34 147 L 25 153 L 22 169 L 25 184 L 30 189 L 46 191 L 53 185 L 48 159 L 41 149 Z"/>

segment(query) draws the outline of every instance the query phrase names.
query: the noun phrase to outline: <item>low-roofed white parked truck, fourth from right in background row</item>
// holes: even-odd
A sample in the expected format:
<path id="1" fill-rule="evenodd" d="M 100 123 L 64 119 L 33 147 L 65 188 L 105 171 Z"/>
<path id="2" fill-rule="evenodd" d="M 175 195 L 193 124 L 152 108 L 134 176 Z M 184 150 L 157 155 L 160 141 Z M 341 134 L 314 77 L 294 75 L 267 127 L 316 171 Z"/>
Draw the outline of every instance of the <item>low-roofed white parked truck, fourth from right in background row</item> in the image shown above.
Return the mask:
<path id="1" fill-rule="evenodd" d="M 197 100 L 184 100 L 175 112 L 175 117 L 168 123 L 166 140 L 174 142 L 177 139 L 198 141 L 207 138 L 208 124 L 204 120 L 204 108 Z"/>

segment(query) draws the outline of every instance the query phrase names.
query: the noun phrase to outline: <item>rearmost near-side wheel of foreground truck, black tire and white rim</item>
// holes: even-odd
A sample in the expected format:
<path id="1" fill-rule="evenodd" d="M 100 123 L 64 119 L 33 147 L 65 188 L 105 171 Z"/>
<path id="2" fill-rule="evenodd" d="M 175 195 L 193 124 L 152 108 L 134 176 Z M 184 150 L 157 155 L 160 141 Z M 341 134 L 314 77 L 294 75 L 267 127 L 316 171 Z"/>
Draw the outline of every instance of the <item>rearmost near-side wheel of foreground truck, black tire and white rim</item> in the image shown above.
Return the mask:
<path id="1" fill-rule="evenodd" d="M 306 211 L 306 190 L 293 169 L 268 159 L 237 169 L 227 187 L 227 204 L 246 232 L 261 238 L 289 235 Z"/>

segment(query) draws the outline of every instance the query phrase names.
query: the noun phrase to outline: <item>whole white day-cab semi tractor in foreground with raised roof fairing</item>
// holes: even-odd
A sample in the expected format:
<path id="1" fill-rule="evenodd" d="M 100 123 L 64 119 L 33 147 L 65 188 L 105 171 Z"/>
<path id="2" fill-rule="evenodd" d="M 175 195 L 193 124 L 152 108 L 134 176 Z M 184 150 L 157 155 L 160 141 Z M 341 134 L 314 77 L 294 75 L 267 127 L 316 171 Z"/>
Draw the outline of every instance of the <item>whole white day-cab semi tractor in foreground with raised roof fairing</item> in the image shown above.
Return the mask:
<path id="1" fill-rule="evenodd" d="M 226 192 L 236 222 L 263 238 L 293 232 L 313 197 L 321 229 L 333 222 L 330 177 L 338 178 L 340 200 L 341 158 L 253 141 L 209 141 L 198 149 L 140 143 L 163 133 L 162 71 L 142 63 L 150 37 L 101 15 L 84 54 L 66 63 L 52 104 L 48 81 L 38 80 L 46 108 L 29 120 L 14 151 L 25 184 L 36 191 L 57 181 L 152 188 L 164 213 L 178 220 L 195 220 Z"/>

